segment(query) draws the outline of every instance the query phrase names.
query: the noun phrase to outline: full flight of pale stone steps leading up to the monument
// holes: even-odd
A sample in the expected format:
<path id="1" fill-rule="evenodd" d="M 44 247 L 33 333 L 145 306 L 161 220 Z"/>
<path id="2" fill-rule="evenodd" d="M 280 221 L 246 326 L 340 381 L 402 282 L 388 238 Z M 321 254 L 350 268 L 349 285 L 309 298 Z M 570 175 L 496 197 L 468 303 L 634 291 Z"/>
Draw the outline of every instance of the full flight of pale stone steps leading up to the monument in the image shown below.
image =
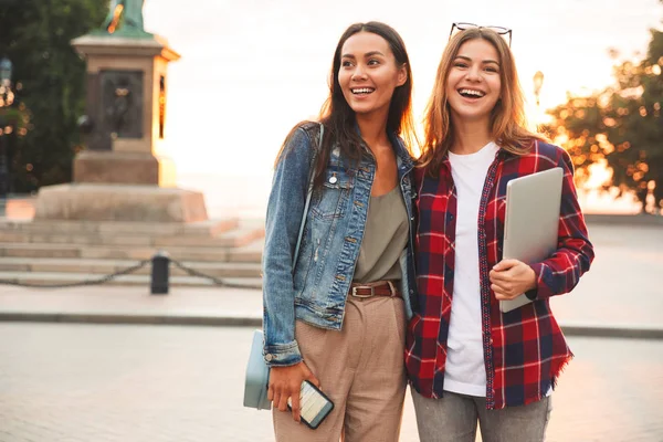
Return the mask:
<path id="1" fill-rule="evenodd" d="M 98 280 L 164 251 L 196 272 L 260 287 L 263 238 L 262 220 L 234 218 L 193 223 L 0 219 L 0 280 L 36 285 Z M 148 263 L 110 283 L 149 285 L 150 273 Z M 172 285 L 214 284 L 175 264 L 170 280 Z"/>

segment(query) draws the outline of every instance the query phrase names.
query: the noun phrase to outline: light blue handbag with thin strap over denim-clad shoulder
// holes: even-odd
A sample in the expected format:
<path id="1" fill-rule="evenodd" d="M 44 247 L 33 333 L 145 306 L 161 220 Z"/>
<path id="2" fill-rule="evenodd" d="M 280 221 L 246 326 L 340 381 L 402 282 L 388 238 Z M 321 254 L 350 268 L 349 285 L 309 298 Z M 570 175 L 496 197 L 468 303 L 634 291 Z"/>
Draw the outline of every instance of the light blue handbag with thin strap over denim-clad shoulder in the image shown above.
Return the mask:
<path id="1" fill-rule="evenodd" d="M 325 126 L 320 123 L 319 146 L 323 145 L 323 135 Z M 315 151 L 315 150 L 314 150 Z M 311 161 L 311 173 L 308 175 L 308 192 L 306 194 L 306 203 L 304 204 L 304 213 L 302 214 L 302 223 L 299 224 L 299 236 L 293 255 L 293 269 L 297 262 L 299 254 L 299 244 L 302 243 L 302 233 L 304 232 L 304 223 L 308 213 L 308 204 L 311 203 L 311 194 L 313 193 L 313 170 L 315 169 L 315 157 Z M 244 383 L 244 407 L 255 408 L 257 410 L 270 410 L 272 402 L 267 400 L 267 387 L 270 383 L 270 367 L 263 358 L 264 335 L 262 330 L 253 332 L 253 343 L 251 344 L 251 352 L 249 354 L 249 364 L 246 365 L 246 380 Z"/>

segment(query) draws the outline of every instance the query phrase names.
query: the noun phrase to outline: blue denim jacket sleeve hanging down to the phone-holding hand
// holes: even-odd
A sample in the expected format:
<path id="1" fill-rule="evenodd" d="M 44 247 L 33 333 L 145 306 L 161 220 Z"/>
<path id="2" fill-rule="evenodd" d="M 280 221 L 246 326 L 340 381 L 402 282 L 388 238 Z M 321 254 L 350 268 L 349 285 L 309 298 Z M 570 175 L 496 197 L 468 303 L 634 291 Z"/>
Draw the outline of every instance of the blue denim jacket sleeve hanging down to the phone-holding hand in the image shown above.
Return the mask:
<path id="1" fill-rule="evenodd" d="M 263 354 L 269 366 L 291 366 L 302 361 L 295 340 L 293 255 L 313 157 L 307 131 L 302 127 L 295 129 L 285 143 L 272 181 L 262 261 Z"/>

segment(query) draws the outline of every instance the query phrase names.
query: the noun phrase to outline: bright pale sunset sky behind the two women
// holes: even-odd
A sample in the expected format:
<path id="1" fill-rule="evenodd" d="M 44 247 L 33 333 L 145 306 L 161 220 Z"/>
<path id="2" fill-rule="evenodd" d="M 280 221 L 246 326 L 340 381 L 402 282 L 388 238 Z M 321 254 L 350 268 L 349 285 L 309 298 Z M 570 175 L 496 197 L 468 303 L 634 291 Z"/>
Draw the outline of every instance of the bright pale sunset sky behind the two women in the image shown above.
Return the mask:
<path id="1" fill-rule="evenodd" d="M 187 6 L 185 6 L 187 4 Z M 196 4 L 196 7 L 193 7 Z M 407 4 L 407 7 L 406 7 Z M 343 31 L 380 20 L 403 38 L 421 119 L 451 23 L 513 29 L 520 82 L 541 106 L 612 82 L 609 48 L 644 53 L 660 28 L 657 0 L 146 0 L 145 23 L 182 57 L 169 67 L 166 152 L 178 172 L 269 177 L 297 122 L 317 115 Z"/>

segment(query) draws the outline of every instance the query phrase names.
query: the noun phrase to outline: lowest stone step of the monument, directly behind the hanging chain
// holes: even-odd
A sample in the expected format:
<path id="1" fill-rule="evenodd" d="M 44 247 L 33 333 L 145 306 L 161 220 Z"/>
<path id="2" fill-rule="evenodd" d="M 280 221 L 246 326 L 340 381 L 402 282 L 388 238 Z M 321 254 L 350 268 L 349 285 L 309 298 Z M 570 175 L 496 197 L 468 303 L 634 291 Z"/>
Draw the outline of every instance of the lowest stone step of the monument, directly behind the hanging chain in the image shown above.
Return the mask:
<path id="1" fill-rule="evenodd" d="M 55 273 L 55 272 L 0 272 L 0 284 L 2 282 L 11 282 L 14 284 L 34 284 L 34 285 L 56 285 L 56 284 L 74 284 L 85 281 L 94 282 L 99 280 L 101 275 L 87 273 Z M 255 277 L 228 277 L 222 278 L 225 284 L 246 288 L 261 288 L 262 280 Z M 189 286 L 189 287 L 209 287 L 215 283 L 211 280 L 196 276 L 171 276 L 171 286 Z M 113 285 L 145 285 L 147 290 L 150 286 L 149 275 L 122 275 L 115 280 L 105 282 L 104 284 Z M 1 285 L 0 285 L 1 286 Z"/>

